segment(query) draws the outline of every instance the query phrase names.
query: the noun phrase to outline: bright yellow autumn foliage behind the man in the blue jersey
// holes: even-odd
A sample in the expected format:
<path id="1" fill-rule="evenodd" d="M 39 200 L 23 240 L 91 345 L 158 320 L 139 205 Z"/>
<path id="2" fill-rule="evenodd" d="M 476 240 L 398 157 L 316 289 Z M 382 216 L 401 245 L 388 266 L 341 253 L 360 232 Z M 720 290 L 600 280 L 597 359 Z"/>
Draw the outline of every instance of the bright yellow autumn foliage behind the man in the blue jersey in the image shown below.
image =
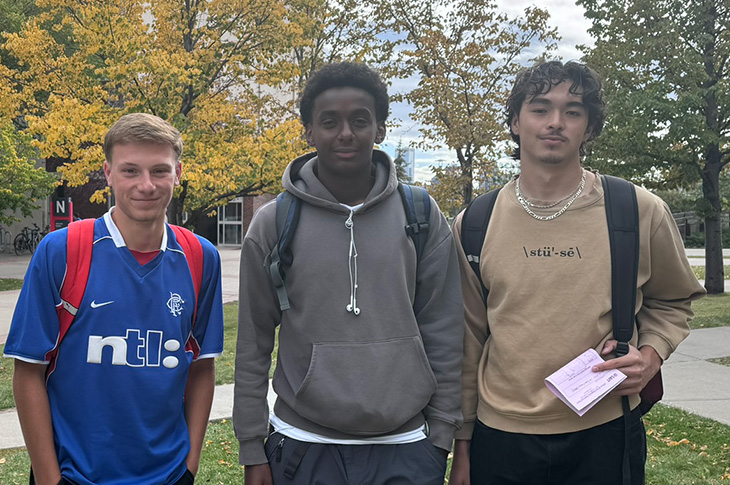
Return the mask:
<path id="1" fill-rule="evenodd" d="M 0 113 L 25 119 L 42 157 L 66 160 L 59 171 L 69 185 L 102 168 L 104 134 L 129 112 L 160 116 L 183 135 L 173 217 L 183 206 L 202 214 L 236 196 L 278 190 L 286 163 L 305 149 L 290 106 L 271 103 L 272 91 L 262 89 L 298 75 L 292 46 L 309 42 L 288 20 L 288 2 L 37 4 L 38 16 L 5 35 L 18 65 L 0 66 Z"/>

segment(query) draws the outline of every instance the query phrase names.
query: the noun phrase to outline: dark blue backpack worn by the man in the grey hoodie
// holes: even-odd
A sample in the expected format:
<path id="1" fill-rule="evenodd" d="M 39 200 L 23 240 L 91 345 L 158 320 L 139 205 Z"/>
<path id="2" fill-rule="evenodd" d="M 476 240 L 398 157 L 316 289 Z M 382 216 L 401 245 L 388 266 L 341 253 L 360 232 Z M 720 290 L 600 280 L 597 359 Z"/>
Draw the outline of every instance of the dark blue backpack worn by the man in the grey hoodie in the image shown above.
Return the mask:
<path id="1" fill-rule="evenodd" d="M 405 231 L 416 247 L 417 260 L 421 260 L 423 248 L 428 239 L 431 198 L 423 187 L 398 183 L 398 192 L 403 202 L 408 224 Z M 271 276 L 276 289 L 281 311 L 288 310 L 289 297 L 286 293 L 286 270 L 291 266 L 293 256 L 291 242 L 299 223 L 302 201 L 290 192 L 282 192 L 276 197 L 276 235 L 278 242 L 264 261 L 264 267 Z"/>

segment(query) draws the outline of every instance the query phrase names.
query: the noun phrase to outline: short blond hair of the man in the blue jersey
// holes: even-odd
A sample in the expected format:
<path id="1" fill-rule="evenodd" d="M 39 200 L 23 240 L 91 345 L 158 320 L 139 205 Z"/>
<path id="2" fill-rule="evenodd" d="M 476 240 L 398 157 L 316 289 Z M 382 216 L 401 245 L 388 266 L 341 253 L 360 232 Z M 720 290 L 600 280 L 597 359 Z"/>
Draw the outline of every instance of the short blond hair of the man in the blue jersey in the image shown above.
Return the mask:
<path id="1" fill-rule="evenodd" d="M 109 128 L 104 137 L 104 156 L 107 161 L 112 162 L 112 149 L 115 145 L 127 143 L 170 145 L 175 152 L 175 160 L 180 161 L 182 157 L 180 132 L 167 121 L 151 114 L 126 114 Z"/>

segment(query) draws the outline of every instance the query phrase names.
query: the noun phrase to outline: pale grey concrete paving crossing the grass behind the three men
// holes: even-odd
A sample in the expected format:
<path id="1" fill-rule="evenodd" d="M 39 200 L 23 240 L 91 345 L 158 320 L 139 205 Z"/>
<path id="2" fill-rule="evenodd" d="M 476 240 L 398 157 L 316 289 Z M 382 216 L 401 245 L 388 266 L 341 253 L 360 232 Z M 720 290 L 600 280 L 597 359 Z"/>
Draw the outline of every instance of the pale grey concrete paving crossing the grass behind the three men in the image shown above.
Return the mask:
<path id="1" fill-rule="evenodd" d="M 687 250 L 701 256 L 702 250 Z M 223 300 L 238 298 L 240 253 L 237 248 L 220 248 L 223 266 Z M 693 252 L 696 252 L 694 254 Z M 730 257 L 730 250 L 725 250 Z M 0 278 L 22 278 L 30 258 L 0 253 Z M 726 281 L 726 291 L 730 286 Z M 10 326 L 18 291 L 0 292 L 0 343 Z M 730 356 L 730 327 L 695 330 L 682 342 L 662 367 L 665 404 L 730 425 L 730 367 L 713 364 L 708 359 Z M 269 400 L 275 395 L 269 389 Z M 231 417 L 233 385 L 216 387 L 211 419 Z M 0 411 L 0 449 L 24 446 L 14 410 Z"/>

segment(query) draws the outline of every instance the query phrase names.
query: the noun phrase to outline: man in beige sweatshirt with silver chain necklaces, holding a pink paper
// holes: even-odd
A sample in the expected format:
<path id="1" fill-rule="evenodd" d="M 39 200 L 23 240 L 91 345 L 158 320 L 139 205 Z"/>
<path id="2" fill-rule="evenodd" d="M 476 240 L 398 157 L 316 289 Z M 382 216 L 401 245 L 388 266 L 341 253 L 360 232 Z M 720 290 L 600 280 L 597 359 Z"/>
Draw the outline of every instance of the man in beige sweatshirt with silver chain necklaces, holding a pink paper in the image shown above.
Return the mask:
<path id="1" fill-rule="evenodd" d="M 631 412 L 632 484 L 644 483 L 646 437 L 639 391 L 687 336 L 693 275 L 666 204 L 636 187 L 639 271 L 636 330 L 615 358 L 611 257 L 600 175 L 581 166 L 583 145 L 603 127 L 601 82 L 585 65 L 552 61 L 520 73 L 507 105 L 521 172 L 500 191 L 480 254 L 489 289 L 460 249 L 466 336 L 464 427 L 451 485 L 622 483 L 624 418 Z M 627 378 L 583 416 L 544 384 L 595 349 Z"/>

